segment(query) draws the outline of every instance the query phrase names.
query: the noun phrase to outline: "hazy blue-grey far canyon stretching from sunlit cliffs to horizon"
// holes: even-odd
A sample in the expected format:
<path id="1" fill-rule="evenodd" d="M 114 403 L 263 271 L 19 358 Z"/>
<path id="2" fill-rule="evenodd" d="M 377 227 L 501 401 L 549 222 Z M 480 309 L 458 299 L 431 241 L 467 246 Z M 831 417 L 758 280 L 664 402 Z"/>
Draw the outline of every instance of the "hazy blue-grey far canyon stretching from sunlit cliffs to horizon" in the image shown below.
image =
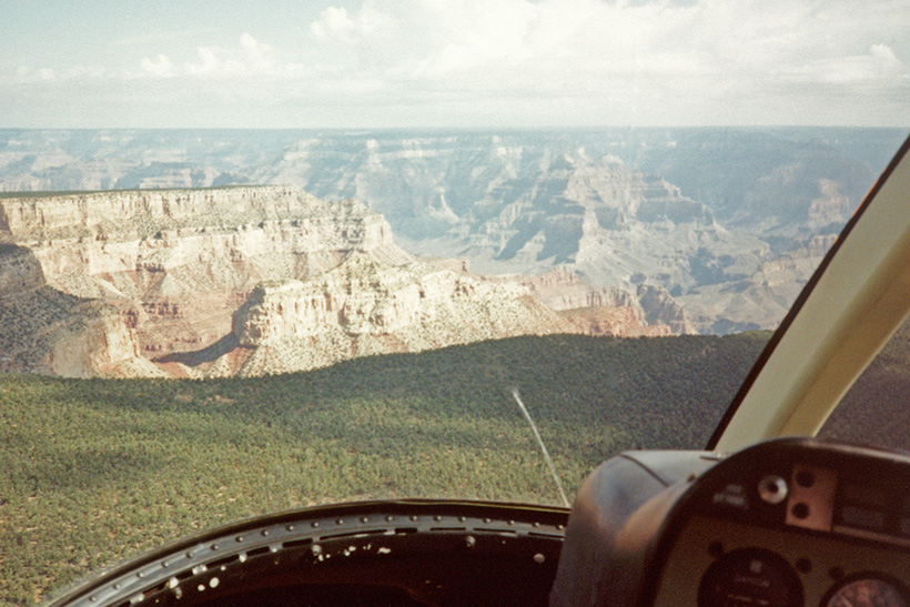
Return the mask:
<path id="1" fill-rule="evenodd" d="M 294 185 L 361 201 L 412 255 L 522 280 L 566 271 L 595 292 L 636 301 L 647 292 L 665 315 L 685 311 L 675 332 L 724 334 L 780 322 L 904 136 L 820 128 L 0 130 L 0 191 Z M 172 275 L 162 289 L 179 283 Z"/>

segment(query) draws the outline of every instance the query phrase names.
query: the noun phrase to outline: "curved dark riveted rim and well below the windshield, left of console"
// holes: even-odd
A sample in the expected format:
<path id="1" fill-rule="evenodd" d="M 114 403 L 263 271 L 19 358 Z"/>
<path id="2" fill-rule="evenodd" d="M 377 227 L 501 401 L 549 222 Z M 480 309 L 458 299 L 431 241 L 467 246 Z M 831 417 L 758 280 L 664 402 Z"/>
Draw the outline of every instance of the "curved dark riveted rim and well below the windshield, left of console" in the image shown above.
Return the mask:
<path id="1" fill-rule="evenodd" d="M 360 502 L 241 520 L 100 571 L 53 607 L 545 606 L 567 508 Z"/>

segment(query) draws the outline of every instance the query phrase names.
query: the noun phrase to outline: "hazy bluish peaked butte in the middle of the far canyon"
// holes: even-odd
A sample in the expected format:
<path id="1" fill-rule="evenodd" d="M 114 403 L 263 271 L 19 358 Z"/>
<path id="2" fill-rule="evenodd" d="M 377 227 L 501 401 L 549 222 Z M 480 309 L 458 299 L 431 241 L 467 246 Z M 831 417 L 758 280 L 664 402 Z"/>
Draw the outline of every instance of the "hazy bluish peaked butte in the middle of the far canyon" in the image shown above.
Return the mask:
<path id="1" fill-rule="evenodd" d="M 593 159 L 579 149 L 535 159 L 534 165 L 520 149 L 506 154 L 512 156 L 457 224 L 410 246 L 466 255 L 485 273 L 534 275 L 560 265 L 592 284 L 617 286 L 636 272 L 655 279 L 661 269 L 661 283 L 690 285 L 695 281 L 679 260 L 730 240 L 705 204 L 614 155 Z"/>

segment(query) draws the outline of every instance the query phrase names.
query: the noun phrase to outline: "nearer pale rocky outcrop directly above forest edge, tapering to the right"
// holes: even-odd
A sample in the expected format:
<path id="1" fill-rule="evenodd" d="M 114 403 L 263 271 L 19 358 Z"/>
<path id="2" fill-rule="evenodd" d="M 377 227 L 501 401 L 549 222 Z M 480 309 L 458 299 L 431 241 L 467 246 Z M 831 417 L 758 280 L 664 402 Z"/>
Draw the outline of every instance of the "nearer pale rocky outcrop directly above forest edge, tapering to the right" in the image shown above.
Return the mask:
<path id="1" fill-rule="evenodd" d="M 355 254 L 306 282 L 260 284 L 234 314 L 233 340 L 252 351 L 237 371 L 257 375 L 553 333 L 640 336 L 670 330 L 647 326 L 633 307 L 557 312 L 518 281 L 484 280 L 421 261 L 393 266 Z M 201 371 L 221 374 L 224 367 Z"/>

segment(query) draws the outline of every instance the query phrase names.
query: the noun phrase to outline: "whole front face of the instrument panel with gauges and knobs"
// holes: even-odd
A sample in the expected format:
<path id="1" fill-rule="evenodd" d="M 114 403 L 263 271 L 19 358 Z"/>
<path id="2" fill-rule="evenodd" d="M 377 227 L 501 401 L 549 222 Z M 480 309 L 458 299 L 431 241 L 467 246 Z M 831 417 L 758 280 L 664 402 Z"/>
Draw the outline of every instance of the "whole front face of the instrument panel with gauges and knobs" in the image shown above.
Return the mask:
<path id="1" fill-rule="evenodd" d="M 691 516 L 678 524 L 654 605 L 910 607 L 902 457 L 783 451 L 718 466 L 680 500 Z"/>

